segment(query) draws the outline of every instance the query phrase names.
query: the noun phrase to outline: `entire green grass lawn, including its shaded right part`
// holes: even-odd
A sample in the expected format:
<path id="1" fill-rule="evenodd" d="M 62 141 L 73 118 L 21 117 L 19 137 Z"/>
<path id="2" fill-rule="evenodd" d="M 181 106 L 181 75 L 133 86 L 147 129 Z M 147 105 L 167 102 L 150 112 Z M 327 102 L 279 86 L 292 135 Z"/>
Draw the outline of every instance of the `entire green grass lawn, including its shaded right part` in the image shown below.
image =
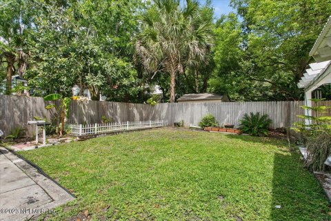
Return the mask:
<path id="1" fill-rule="evenodd" d="M 280 140 L 161 128 L 19 153 L 77 196 L 51 220 L 330 219 Z"/>

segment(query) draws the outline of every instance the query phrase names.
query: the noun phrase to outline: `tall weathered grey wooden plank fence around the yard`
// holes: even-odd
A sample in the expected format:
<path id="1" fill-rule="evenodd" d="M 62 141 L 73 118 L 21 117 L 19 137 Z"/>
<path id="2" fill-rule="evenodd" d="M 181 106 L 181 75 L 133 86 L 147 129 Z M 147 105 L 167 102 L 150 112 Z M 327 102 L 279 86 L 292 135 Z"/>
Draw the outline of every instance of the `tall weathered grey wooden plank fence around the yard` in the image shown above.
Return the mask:
<path id="1" fill-rule="evenodd" d="M 52 102 L 44 102 L 42 97 L 26 97 L 0 95 L 0 129 L 5 135 L 18 126 L 23 127 L 28 120 L 46 117 L 48 121 L 54 117 L 54 110 L 48 111 L 45 106 Z M 319 105 L 331 106 L 330 101 L 319 102 Z M 270 128 L 291 126 L 300 121 L 297 115 L 303 115 L 300 108 L 303 102 L 219 102 L 219 103 L 166 103 L 151 106 L 150 104 L 131 104 L 121 102 L 77 102 L 70 103 L 68 124 L 99 124 L 102 117 L 112 122 L 159 121 L 174 122 L 183 120 L 184 126 L 197 125 L 207 113 L 216 117 L 219 124 L 239 126 L 239 119 L 245 113 L 266 113 L 272 119 Z M 330 115 L 329 110 L 329 115 Z M 33 135 L 33 126 L 24 126 L 27 135 Z"/>

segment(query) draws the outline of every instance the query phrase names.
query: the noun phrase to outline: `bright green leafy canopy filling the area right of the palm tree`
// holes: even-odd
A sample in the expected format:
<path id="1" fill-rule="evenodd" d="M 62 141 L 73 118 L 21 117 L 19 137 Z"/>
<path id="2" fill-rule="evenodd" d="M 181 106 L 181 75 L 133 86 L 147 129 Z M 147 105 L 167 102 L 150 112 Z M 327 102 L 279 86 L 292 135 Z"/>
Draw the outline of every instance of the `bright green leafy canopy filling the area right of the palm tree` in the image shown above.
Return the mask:
<path id="1" fill-rule="evenodd" d="M 223 90 L 238 100 L 302 99 L 297 82 L 312 62 L 308 54 L 331 14 L 330 1 L 231 3 L 238 15 L 217 22 L 218 65 L 210 90 Z"/>

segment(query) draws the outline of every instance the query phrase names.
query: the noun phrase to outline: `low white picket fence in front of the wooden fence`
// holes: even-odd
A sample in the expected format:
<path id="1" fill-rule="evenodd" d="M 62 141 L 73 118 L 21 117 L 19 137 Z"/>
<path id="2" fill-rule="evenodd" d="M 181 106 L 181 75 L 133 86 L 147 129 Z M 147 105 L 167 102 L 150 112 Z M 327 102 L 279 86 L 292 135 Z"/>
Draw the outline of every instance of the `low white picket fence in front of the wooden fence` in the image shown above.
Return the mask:
<path id="1" fill-rule="evenodd" d="M 68 124 L 68 129 L 70 130 L 70 134 L 82 136 L 119 131 L 134 131 L 144 128 L 156 128 L 166 125 L 167 122 L 164 122 L 163 120 L 149 120 L 146 122 L 120 122 L 107 124 Z"/>

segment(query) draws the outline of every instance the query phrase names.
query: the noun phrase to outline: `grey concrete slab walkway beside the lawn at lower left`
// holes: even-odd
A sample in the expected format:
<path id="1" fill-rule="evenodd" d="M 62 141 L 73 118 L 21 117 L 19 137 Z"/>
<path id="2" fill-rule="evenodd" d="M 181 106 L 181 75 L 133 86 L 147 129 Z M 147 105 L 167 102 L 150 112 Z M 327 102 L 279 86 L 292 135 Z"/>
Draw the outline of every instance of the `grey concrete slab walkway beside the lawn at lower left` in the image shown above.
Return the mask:
<path id="1" fill-rule="evenodd" d="M 74 200 L 28 162 L 0 147 L 0 220 L 27 220 Z"/>

